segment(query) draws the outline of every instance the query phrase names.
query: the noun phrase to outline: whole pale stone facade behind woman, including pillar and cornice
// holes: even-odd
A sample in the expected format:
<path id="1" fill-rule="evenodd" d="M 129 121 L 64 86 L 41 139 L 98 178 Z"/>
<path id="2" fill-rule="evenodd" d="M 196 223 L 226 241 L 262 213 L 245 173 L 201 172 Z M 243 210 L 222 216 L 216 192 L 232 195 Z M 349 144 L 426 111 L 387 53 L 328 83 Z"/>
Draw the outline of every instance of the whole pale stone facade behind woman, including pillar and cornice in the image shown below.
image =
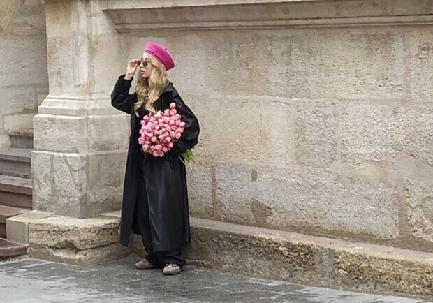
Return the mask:
<path id="1" fill-rule="evenodd" d="M 109 93 L 155 40 L 175 57 L 170 78 L 202 126 L 192 216 L 432 251 L 431 1 L 46 3 L 52 57 L 35 120 L 36 209 L 85 217 L 113 208 L 128 126 L 108 109 Z M 56 77 L 56 58 L 69 58 L 73 73 Z M 115 184 L 106 196 L 104 182 Z"/>

